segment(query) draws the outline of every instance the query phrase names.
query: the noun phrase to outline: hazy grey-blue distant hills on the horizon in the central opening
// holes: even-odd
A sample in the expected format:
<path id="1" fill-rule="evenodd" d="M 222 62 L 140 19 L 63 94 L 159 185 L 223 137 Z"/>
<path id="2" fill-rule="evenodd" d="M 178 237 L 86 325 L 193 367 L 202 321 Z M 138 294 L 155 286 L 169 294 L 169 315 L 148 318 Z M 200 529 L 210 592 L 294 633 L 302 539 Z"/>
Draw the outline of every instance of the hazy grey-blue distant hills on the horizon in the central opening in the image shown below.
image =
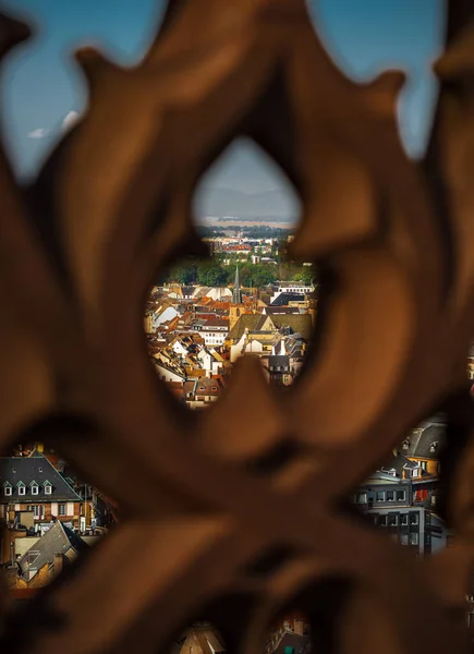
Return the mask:
<path id="1" fill-rule="evenodd" d="M 207 186 L 196 194 L 194 211 L 197 218 L 232 216 L 243 220 L 288 222 L 297 220 L 300 204 L 294 196 L 278 189 L 251 194 Z"/>

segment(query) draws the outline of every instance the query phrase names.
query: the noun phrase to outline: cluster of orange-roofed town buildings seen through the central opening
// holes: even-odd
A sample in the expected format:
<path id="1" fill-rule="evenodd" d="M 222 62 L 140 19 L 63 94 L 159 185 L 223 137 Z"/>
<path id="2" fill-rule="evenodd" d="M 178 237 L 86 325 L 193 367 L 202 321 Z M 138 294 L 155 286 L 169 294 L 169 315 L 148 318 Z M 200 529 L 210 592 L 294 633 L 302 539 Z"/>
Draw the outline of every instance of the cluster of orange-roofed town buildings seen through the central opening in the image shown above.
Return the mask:
<path id="1" fill-rule="evenodd" d="M 245 294 L 238 268 L 232 289 L 155 288 L 145 324 L 159 378 L 193 409 L 219 397 L 243 355 L 257 356 L 276 386 L 289 386 L 303 366 L 314 328 L 312 290 L 276 284 L 266 294 Z M 294 302 L 282 304 L 282 298 Z"/>

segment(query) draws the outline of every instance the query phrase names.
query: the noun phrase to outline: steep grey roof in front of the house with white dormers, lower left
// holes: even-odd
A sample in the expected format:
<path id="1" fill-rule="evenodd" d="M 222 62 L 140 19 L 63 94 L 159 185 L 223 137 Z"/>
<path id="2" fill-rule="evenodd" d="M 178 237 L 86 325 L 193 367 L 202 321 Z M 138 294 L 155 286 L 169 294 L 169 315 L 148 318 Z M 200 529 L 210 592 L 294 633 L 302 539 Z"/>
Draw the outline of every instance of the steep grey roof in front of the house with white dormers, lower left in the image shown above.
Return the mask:
<path id="1" fill-rule="evenodd" d="M 42 566 L 53 562 L 56 554 L 70 556 L 71 550 L 73 550 L 72 554 L 77 555 L 85 549 L 88 549 L 88 545 L 73 531 L 57 520 L 20 559 L 20 572 L 31 581 Z"/>

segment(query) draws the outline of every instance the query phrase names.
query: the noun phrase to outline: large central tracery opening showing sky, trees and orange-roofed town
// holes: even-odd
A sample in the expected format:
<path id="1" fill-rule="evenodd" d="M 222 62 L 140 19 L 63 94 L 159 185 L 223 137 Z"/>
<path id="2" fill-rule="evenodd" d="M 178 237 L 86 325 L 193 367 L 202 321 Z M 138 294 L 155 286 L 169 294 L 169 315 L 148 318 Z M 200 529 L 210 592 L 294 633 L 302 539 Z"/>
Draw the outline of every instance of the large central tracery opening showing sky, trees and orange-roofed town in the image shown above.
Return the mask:
<path id="1" fill-rule="evenodd" d="M 268 382 L 289 388 L 311 347 L 317 284 L 314 263 L 289 256 L 301 211 L 293 186 L 239 140 L 203 175 L 193 207 L 209 255 L 162 271 L 145 310 L 158 377 L 191 409 L 224 392 L 241 356 L 258 358 Z"/>

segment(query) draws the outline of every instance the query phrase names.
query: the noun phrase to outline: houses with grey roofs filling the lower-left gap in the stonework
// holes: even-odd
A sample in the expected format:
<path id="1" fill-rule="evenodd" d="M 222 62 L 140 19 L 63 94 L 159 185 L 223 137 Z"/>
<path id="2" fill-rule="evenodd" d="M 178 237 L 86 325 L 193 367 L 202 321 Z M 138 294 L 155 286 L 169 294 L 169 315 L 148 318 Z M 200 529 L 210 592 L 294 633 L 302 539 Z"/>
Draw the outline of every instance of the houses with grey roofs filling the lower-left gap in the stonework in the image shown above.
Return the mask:
<path id="1" fill-rule="evenodd" d="M 114 502 L 40 448 L 0 458 L 0 565 L 13 600 L 49 583 L 117 521 Z"/>

